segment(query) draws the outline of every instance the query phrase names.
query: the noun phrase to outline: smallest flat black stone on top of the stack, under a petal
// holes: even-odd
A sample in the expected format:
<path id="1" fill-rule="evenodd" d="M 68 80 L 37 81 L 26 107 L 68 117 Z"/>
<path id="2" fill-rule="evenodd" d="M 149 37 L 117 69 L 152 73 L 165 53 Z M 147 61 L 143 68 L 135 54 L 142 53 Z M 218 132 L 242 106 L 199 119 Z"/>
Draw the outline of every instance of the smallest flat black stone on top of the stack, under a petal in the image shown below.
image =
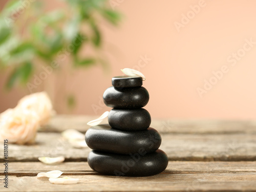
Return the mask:
<path id="1" fill-rule="evenodd" d="M 142 78 L 139 76 L 116 76 L 112 78 L 114 87 L 139 87 L 142 85 Z"/>

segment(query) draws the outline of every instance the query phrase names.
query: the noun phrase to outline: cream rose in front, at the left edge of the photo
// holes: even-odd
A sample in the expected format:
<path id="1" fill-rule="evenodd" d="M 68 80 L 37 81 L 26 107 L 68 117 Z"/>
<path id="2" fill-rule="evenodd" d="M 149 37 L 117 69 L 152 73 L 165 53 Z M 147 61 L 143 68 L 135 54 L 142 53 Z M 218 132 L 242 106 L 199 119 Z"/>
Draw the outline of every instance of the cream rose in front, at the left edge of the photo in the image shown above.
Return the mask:
<path id="1" fill-rule="evenodd" d="M 38 126 L 38 116 L 33 111 L 14 108 L 0 114 L 0 138 L 10 143 L 33 143 Z"/>

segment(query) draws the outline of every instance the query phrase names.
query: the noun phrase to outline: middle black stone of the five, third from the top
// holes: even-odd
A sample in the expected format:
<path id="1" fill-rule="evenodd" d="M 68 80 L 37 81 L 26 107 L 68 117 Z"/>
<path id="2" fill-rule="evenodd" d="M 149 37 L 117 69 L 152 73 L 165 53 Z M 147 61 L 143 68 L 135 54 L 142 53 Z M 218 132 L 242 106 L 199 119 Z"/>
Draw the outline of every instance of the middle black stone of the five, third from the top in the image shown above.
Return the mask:
<path id="1" fill-rule="evenodd" d="M 140 109 L 112 109 L 109 113 L 109 124 L 112 128 L 124 131 L 141 131 L 150 127 L 150 113 Z"/>

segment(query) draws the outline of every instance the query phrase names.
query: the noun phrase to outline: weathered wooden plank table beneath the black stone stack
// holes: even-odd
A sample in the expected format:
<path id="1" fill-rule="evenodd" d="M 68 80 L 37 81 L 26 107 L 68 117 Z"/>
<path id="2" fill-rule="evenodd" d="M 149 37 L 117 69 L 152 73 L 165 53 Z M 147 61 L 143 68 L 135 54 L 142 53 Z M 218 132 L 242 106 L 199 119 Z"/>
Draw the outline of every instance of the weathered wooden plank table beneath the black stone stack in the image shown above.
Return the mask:
<path id="1" fill-rule="evenodd" d="M 91 149 L 72 148 L 61 137 L 60 132 L 69 128 L 86 132 L 87 122 L 94 118 L 59 115 L 40 130 L 35 145 L 9 144 L 10 181 L 8 189 L 2 181 L 0 191 L 256 191 L 256 121 L 154 119 L 151 127 L 162 135 L 160 149 L 167 153 L 169 164 L 159 175 L 134 178 L 92 171 L 87 163 Z M 66 160 L 57 165 L 37 159 L 60 155 Z M 36 178 L 37 173 L 52 170 L 80 182 L 56 185 L 48 178 Z"/>

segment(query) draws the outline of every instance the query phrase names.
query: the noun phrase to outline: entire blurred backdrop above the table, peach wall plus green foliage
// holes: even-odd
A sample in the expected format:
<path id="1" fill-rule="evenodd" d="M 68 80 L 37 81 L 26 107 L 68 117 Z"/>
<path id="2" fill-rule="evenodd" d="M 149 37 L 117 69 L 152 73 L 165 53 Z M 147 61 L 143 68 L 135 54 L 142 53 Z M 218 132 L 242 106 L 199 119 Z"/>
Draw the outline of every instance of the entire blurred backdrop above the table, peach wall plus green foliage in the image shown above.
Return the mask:
<path id="1" fill-rule="evenodd" d="M 110 110 L 102 94 L 111 78 L 134 68 L 146 77 L 153 118 L 255 118 L 253 0 L 8 2 L 0 1 L 0 112 L 45 90 L 59 114 L 99 116 Z M 79 49 L 69 46 L 77 34 Z"/>

